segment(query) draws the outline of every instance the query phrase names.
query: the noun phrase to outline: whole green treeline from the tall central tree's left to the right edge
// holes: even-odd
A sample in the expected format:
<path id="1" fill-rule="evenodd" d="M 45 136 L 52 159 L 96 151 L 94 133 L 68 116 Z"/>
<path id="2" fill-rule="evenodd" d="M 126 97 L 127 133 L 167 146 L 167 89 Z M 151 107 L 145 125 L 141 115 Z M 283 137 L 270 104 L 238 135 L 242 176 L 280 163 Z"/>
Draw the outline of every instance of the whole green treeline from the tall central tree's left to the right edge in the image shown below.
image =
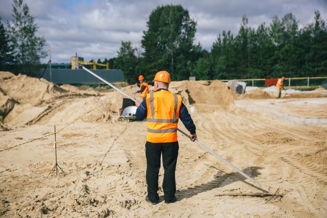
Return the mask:
<path id="1" fill-rule="evenodd" d="M 157 7 L 147 24 L 142 48 L 123 41 L 118 57 L 109 60 L 110 66 L 123 69 L 130 83 L 140 74 L 150 81 L 163 69 L 173 80 L 327 75 L 327 29 L 319 11 L 314 22 L 301 29 L 291 13 L 256 29 L 248 26 L 244 15 L 239 33 L 218 34 L 210 52 L 194 44 L 196 22 L 180 5 Z"/>

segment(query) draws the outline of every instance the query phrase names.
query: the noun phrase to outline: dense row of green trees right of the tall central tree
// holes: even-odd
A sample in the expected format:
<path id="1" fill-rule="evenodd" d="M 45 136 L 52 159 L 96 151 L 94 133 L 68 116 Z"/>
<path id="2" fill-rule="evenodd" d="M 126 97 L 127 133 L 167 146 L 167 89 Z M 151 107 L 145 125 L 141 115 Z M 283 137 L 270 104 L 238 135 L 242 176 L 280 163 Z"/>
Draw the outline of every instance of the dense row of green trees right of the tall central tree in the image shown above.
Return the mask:
<path id="1" fill-rule="evenodd" d="M 239 34 L 223 32 L 213 44 L 205 76 L 228 78 L 318 77 L 327 75 L 327 31 L 320 13 L 315 23 L 298 29 L 291 13 L 274 17 L 270 26 L 248 27 L 244 16 Z M 206 60 L 203 60 L 204 62 Z M 212 75 L 210 75 L 212 74 Z"/>

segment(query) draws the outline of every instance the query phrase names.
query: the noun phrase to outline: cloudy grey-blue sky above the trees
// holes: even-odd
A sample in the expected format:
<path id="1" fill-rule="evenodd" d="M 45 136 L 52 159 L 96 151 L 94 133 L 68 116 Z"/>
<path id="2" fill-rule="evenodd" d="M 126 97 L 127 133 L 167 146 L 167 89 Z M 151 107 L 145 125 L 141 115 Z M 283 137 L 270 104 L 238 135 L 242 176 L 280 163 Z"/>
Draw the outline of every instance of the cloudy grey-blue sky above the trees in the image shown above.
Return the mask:
<path id="1" fill-rule="evenodd" d="M 218 34 L 230 30 L 238 34 L 242 16 L 249 26 L 269 25 L 274 16 L 292 13 L 299 28 L 314 21 L 320 11 L 327 23 L 327 0 L 24 0 L 51 47 L 52 63 L 70 63 L 71 56 L 85 61 L 117 56 L 122 41 L 141 46 L 143 31 L 151 11 L 157 6 L 180 4 L 197 22 L 196 43 L 211 51 Z M 12 20 L 13 0 L 0 0 L 0 16 Z M 41 60 L 47 63 L 49 57 Z"/>

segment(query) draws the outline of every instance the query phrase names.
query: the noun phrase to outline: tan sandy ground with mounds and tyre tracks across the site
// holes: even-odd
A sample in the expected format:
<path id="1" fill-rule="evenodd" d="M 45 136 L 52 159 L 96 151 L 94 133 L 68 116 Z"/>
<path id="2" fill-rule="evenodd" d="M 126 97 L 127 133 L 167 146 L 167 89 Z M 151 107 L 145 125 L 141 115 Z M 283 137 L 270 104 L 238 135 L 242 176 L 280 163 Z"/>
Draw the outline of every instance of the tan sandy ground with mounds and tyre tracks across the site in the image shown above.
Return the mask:
<path id="1" fill-rule="evenodd" d="M 136 89 L 122 88 L 141 100 Z M 261 187 L 179 134 L 178 201 L 163 201 L 161 168 L 160 203 L 151 205 L 144 200 L 146 122 L 118 121 L 121 93 L 0 72 L 0 216 L 327 217 L 327 127 L 265 113 L 269 105 L 327 118 L 326 90 L 279 100 L 262 90 L 238 95 L 219 81 L 172 82 L 170 90 L 195 107 L 199 141 Z M 297 103 L 281 107 L 285 101 Z"/>

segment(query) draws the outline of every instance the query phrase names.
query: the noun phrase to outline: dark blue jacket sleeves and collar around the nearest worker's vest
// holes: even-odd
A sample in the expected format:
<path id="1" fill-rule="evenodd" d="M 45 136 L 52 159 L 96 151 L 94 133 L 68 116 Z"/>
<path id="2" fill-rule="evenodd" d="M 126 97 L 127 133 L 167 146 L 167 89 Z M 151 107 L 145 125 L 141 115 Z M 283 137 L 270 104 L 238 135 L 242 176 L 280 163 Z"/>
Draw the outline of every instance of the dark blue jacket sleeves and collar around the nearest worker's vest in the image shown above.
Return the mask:
<path id="1" fill-rule="evenodd" d="M 167 89 L 160 88 L 156 91 L 160 91 L 160 90 L 167 90 Z M 147 109 L 146 98 L 144 98 L 141 105 L 138 106 L 135 115 L 136 115 L 137 120 L 144 120 L 145 118 L 147 118 L 148 109 Z M 195 132 L 196 128 L 193 123 L 193 119 L 191 118 L 191 115 L 190 115 L 188 109 L 186 108 L 186 106 L 183 103 L 179 109 L 179 118 L 180 118 L 181 122 L 183 123 L 183 125 L 185 126 L 185 128 L 188 129 L 191 134 L 196 133 Z"/>

